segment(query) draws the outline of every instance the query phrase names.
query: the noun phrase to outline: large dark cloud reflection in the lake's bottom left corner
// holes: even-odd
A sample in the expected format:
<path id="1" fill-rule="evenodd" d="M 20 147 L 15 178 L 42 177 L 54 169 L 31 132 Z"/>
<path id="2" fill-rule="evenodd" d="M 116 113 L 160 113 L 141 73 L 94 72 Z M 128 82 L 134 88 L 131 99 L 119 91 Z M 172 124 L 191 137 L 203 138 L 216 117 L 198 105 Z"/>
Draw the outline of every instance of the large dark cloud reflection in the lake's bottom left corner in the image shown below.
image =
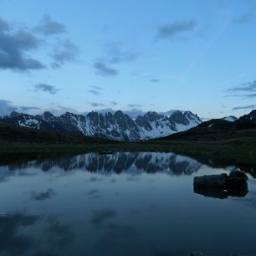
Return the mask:
<path id="1" fill-rule="evenodd" d="M 44 228 L 45 235 L 37 235 L 40 228 Z M 58 256 L 61 253 L 55 253 L 54 249 L 62 250 L 73 243 L 74 238 L 72 228 L 56 218 L 44 218 L 23 212 L 0 216 L 0 255 Z"/>

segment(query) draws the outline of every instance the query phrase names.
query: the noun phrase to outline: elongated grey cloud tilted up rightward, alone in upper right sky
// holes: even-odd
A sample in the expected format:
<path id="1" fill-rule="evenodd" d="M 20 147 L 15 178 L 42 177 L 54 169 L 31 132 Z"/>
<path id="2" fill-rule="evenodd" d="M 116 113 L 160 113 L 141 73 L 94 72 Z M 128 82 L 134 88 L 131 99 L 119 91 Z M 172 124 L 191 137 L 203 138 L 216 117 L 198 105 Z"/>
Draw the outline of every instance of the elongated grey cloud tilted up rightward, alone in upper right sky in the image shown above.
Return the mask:
<path id="1" fill-rule="evenodd" d="M 191 32 L 196 28 L 197 22 L 194 19 L 191 20 L 177 20 L 171 24 L 166 24 L 158 29 L 156 38 L 174 38 L 181 33 Z"/>

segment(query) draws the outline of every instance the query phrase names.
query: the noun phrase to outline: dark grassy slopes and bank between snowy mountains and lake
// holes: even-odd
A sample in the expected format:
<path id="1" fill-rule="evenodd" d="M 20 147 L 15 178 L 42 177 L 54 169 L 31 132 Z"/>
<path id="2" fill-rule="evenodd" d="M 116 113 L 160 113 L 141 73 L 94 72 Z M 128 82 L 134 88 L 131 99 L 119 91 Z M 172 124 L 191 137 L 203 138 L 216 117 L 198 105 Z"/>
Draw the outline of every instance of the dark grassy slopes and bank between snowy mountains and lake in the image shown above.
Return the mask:
<path id="1" fill-rule="evenodd" d="M 255 165 L 256 130 L 222 132 L 210 136 L 197 134 L 194 138 L 176 136 L 168 140 L 119 142 L 0 125 L 0 157 L 7 154 L 75 154 L 93 151 L 172 151 L 202 160 L 225 161 L 233 165 Z"/>

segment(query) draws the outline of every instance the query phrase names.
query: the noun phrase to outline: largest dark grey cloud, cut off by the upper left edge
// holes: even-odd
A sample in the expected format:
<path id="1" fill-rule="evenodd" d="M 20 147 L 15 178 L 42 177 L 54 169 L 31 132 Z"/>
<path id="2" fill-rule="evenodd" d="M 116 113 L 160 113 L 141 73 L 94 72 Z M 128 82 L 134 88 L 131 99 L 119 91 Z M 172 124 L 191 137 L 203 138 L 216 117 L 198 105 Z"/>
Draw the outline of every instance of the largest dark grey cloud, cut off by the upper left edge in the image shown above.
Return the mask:
<path id="1" fill-rule="evenodd" d="M 28 52 L 38 49 L 39 45 L 40 40 L 33 33 L 23 28 L 13 29 L 0 20 L 0 69 L 44 69 L 44 64 L 28 56 Z"/>

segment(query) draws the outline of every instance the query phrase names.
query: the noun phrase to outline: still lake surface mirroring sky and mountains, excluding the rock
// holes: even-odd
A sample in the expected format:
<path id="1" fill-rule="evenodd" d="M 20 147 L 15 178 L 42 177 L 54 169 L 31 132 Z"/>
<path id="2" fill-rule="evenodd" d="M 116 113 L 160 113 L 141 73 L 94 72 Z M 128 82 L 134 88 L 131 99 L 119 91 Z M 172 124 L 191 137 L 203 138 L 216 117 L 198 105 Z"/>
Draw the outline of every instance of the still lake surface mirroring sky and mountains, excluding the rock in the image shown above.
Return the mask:
<path id="1" fill-rule="evenodd" d="M 253 255 L 256 182 L 246 197 L 193 192 L 228 172 L 161 153 L 86 154 L 0 167 L 0 255 Z"/>

